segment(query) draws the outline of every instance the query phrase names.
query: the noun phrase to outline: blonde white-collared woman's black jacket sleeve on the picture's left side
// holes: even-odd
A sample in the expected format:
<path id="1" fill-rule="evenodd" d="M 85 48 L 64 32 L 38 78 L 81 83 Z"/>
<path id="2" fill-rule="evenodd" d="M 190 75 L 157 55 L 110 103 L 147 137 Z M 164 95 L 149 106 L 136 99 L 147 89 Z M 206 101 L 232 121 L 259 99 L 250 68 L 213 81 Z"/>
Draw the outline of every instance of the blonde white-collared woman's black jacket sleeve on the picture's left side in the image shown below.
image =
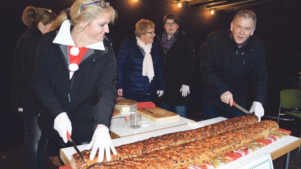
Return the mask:
<path id="1" fill-rule="evenodd" d="M 42 37 L 35 54 L 32 88 L 41 106 L 54 119 L 60 113 L 66 112 L 66 110 L 63 109 L 57 96 L 51 89 L 49 79 L 50 63 L 47 53 L 45 53 L 46 41 L 51 41 L 52 43 L 51 39 Z"/>

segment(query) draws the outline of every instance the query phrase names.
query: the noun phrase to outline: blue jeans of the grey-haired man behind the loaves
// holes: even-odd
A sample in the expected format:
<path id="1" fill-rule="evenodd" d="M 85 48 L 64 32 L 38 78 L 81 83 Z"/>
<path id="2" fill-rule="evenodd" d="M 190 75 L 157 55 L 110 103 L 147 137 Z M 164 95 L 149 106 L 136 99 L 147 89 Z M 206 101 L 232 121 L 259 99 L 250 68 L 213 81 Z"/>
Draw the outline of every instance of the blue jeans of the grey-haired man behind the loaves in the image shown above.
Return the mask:
<path id="1" fill-rule="evenodd" d="M 245 115 L 241 110 L 237 109 L 236 107 L 225 106 L 224 108 L 216 108 L 211 106 L 205 102 L 202 102 L 202 109 L 203 109 L 203 120 L 212 119 L 215 117 L 219 117 L 220 113 L 225 113 L 227 118 L 232 118 L 236 116 Z"/>

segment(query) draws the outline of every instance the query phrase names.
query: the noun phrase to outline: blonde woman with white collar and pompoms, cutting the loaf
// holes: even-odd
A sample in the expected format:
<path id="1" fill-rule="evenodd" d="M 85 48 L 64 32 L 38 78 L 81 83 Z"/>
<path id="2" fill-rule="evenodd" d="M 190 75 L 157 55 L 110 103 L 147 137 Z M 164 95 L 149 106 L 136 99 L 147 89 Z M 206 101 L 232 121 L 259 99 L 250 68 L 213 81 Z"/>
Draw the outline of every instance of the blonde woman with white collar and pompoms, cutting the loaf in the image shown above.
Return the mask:
<path id="1" fill-rule="evenodd" d="M 43 110 L 39 127 L 57 151 L 90 144 L 90 159 L 117 155 L 109 134 L 117 97 L 117 64 L 106 37 L 117 12 L 104 1 L 76 0 L 45 34 L 35 57 L 32 86 Z M 61 25 L 58 23 L 62 23 Z"/>

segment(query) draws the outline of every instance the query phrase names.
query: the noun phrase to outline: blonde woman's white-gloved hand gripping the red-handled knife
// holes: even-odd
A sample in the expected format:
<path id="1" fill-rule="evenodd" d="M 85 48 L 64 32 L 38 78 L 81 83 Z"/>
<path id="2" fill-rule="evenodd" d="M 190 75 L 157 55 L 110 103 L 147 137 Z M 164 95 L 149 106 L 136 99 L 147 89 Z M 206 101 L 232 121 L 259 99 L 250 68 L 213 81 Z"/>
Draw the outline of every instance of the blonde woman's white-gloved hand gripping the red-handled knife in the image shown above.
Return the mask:
<path id="1" fill-rule="evenodd" d="M 53 128 L 58 131 L 60 137 L 63 138 L 65 143 L 67 143 L 67 131 L 70 135 L 72 132 L 71 121 L 69 120 L 67 113 L 63 112 L 55 117 Z"/>

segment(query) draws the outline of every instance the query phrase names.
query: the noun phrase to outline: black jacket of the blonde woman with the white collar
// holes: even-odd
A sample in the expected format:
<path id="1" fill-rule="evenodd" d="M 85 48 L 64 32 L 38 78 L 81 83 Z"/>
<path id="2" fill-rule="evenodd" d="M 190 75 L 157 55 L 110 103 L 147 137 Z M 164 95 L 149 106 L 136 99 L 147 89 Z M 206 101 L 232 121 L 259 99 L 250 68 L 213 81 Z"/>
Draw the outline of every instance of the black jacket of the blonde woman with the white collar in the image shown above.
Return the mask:
<path id="1" fill-rule="evenodd" d="M 104 51 L 88 49 L 69 80 L 68 46 L 52 43 L 55 36 L 56 31 L 44 34 L 35 56 L 32 86 L 43 106 L 38 124 L 48 137 L 62 142 L 53 128 L 54 118 L 66 112 L 72 123 L 72 139 L 89 142 L 97 124 L 110 128 L 117 98 L 113 48 L 104 39 Z"/>

